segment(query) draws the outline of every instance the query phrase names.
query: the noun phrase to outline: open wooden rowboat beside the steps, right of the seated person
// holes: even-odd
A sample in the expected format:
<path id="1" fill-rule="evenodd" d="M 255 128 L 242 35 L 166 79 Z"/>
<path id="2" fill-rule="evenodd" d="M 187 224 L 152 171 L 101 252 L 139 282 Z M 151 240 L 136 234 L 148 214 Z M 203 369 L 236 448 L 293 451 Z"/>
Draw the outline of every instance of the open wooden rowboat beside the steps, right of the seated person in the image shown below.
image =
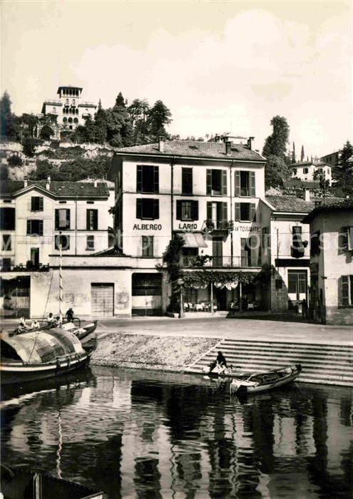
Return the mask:
<path id="1" fill-rule="evenodd" d="M 283 386 L 294 381 L 300 375 L 302 366 L 295 364 L 286 366 L 273 371 L 241 376 L 232 379 L 230 383 L 230 393 L 237 395 L 247 395 L 248 393 L 260 393 L 262 391 L 272 390 L 277 386 Z"/>

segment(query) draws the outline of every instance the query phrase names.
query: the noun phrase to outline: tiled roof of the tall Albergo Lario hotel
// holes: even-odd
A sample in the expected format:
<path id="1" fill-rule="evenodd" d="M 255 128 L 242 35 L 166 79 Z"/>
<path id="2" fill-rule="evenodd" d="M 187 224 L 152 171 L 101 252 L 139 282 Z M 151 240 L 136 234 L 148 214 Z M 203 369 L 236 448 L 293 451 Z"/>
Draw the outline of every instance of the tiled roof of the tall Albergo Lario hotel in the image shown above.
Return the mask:
<path id="1" fill-rule="evenodd" d="M 232 144 L 230 154 L 225 153 L 225 143 L 200 142 L 198 140 L 165 140 L 163 153 L 158 144 L 134 145 L 131 148 L 116 149 L 116 153 L 193 156 L 195 158 L 218 158 L 265 161 L 265 158 L 245 145 Z"/>

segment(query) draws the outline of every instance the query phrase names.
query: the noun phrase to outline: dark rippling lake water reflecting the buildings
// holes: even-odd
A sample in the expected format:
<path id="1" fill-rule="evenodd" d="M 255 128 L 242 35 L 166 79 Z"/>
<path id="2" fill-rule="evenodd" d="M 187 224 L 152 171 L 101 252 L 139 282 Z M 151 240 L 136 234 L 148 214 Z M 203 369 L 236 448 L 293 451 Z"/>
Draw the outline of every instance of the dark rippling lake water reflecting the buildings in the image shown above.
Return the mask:
<path id="1" fill-rule="evenodd" d="M 93 367 L 4 391 L 1 458 L 108 498 L 351 498 L 352 392 Z"/>

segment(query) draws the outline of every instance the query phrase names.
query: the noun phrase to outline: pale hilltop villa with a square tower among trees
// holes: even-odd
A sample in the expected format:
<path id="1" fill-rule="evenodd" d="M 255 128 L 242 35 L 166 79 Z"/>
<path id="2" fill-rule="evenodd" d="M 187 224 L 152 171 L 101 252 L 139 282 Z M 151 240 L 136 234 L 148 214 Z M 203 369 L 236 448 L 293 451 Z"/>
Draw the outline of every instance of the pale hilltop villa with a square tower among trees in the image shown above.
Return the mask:
<path id="1" fill-rule="evenodd" d="M 97 105 L 93 102 L 82 101 L 82 90 L 81 87 L 70 85 L 59 86 L 58 98 L 48 98 L 44 101 L 39 118 L 49 116 L 56 124 L 53 127 L 55 138 L 60 138 L 62 130 L 75 130 L 78 125 L 85 124 L 88 116 L 94 117 Z M 44 124 L 39 126 L 39 135 Z"/>

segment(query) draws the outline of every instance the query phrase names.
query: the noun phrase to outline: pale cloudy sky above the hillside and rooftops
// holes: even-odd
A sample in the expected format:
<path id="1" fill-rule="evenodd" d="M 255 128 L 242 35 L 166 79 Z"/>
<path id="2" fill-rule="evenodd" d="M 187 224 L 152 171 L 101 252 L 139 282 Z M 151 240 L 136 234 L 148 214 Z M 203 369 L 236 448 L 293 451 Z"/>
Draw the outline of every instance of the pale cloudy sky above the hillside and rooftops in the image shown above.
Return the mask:
<path id="1" fill-rule="evenodd" d="M 113 106 L 119 91 L 170 108 L 168 131 L 255 136 L 287 118 L 297 155 L 352 139 L 347 1 L 6 1 L 1 93 L 40 113 L 60 85 Z"/>

